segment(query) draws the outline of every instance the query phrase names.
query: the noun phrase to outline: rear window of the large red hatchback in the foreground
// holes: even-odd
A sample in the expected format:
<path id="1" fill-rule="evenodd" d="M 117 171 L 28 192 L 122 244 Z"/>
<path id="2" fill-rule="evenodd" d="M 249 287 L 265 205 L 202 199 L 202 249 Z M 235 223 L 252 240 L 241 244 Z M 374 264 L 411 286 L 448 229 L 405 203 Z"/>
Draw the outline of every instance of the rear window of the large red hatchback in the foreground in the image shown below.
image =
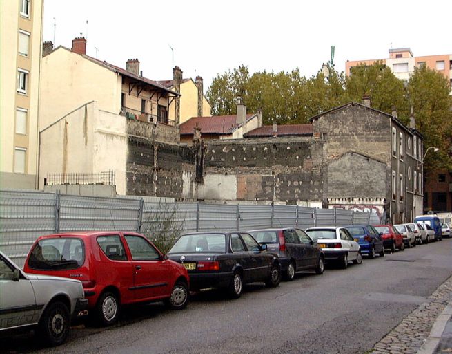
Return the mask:
<path id="1" fill-rule="evenodd" d="M 85 246 L 81 239 L 59 237 L 41 239 L 33 248 L 28 266 L 36 270 L 66 270 L 85 262 Z"/>

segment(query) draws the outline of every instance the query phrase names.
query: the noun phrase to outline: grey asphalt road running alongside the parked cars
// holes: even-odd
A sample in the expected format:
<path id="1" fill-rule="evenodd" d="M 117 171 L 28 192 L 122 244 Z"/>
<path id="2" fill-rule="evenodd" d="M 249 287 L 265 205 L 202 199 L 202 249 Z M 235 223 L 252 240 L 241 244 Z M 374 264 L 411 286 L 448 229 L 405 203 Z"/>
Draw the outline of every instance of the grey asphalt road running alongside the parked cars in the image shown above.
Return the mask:
<path id="1" fill-rule="evenodd" d="M 112 328 L 72 328 L 41 349 L 32 335 L 0 340 L 6 353 L 366 353 L 452 274 L 452 239 L 364 259 L 323 275 L 297 274 L 240 299 L 197 293 L 186 310 L 126 308 Z"/>

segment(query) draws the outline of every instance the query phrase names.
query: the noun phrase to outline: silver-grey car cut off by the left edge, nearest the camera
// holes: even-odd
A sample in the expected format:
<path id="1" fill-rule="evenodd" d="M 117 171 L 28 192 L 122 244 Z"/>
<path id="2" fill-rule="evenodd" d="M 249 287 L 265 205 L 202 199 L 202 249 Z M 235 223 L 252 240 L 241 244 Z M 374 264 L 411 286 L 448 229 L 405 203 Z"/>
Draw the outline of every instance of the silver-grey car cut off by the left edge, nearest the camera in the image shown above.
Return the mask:
<path id="1" fill-rule="evenodd" d="M 26 274 L 0 252 L 0 334 L 35 329 L 50 346 L 68 337 L 72 317 L 86 308 L 81 281 Z"/>

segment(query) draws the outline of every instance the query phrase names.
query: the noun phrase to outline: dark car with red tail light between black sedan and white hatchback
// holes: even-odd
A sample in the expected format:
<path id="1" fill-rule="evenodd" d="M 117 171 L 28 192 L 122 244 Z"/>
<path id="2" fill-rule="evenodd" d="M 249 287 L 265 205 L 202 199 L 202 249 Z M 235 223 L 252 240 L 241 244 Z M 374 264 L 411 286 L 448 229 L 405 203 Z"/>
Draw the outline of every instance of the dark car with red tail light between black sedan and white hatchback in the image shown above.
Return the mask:
<path id="1" fill-rule="evenodd" d="M 315 270 L 324 272 L 324 254 L 306 232 L 293 228 L 264 229 L 248 231 L 257 242 L 266 244 L 268 252 L 276 254 L 284 278 L 291 281 L 295 272 Z"/>

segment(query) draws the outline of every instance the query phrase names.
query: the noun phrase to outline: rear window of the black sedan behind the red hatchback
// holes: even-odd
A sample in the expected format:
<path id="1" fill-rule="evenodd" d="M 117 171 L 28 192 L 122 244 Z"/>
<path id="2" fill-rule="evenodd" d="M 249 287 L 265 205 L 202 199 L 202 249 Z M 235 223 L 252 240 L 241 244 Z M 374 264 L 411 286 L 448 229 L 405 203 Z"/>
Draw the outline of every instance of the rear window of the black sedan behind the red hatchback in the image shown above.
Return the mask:
<path id="1" fill-rule="evenodd" d="M 168 253 L 226 253 L 224 234 L 188 234 L 181 236 Z"/>

